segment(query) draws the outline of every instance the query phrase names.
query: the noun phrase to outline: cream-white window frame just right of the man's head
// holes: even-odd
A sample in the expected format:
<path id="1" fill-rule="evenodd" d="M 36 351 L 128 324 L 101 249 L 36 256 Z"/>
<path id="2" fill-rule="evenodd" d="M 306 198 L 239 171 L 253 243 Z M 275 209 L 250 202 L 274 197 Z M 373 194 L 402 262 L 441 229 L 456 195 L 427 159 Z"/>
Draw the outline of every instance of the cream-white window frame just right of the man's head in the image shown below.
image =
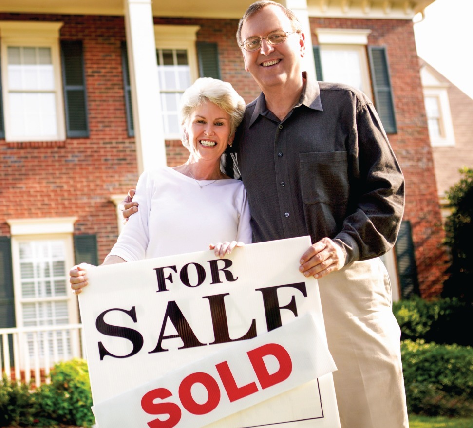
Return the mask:
<path id="1" fill-rule="evenodd" d="M 371 73 L 368 64 L 368 53 L 366 46 L 368 45 L 368 36 L 371 30 L 337 30 L 333 28 L 318 28 L 315 30 L 317 39 L 319 40 L 319 49 L 322 52 L 326 50 L 352 51 L 358 54 L 361 72 L 361 81 L 363 91 L 368 98 L 373 99 L 373 91 L 371 88 Z M 322 70 L 323 70 L 323 60 Z M 324 80 L 329 81 L 326 76 Z M 341 82 L 343 83 L 343 82 Z"/>

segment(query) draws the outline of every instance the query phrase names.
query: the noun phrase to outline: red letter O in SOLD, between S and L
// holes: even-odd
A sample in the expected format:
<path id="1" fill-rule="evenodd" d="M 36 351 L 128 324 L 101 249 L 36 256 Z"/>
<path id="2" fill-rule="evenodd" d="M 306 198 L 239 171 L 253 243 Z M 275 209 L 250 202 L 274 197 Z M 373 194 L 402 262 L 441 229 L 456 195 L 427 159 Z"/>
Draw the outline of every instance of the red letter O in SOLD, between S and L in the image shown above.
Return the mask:
<path id="1" fill-rule="evenodd" d="M 192 397 L 190 389 L 195 383 L 204 386 L 208 393 L 208 399 L 204 404 L 197 403 Z M 220 389 L 217 381 L 208 373 L 198 372 L 189 374 L 179 385 L 179 398 L 184 408 L 194 415 L 203 415 L 211 412 L 220 402 Z"/>

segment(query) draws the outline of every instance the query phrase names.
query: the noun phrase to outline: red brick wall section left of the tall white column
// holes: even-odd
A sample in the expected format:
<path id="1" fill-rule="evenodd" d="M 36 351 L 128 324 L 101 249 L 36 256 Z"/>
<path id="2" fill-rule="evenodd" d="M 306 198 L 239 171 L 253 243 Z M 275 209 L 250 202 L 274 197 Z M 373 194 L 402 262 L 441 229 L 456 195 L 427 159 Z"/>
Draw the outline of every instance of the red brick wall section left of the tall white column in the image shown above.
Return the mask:
<path id="1" fill-rule="evenodd" d="M 0 140 L 0 233 L 9 234 L 5 219 L 77 216 L 75 233 L 97 234 L 101 261 L 117 238 L 110 196 L 126 193 L 138 177 L 126 128 L 123 18 L 0 14 L 0 19 L 62 21 L 61 39 L 83 41 L 90 127 L 90 138 L 61 143 Z"/>

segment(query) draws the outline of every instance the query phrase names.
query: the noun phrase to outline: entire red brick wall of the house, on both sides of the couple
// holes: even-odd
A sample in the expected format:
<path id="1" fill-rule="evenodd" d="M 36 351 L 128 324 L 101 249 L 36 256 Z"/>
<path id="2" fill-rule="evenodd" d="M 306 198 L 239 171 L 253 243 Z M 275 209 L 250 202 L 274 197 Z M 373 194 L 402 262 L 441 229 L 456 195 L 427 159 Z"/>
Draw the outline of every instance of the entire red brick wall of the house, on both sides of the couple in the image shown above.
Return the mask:
<path id="1" fill-rule="evenodd" d="M 127 136 L 121 72 L 123 19 L 21 14 L 0 14 L 0 19 L 62 21 L 61 38 L 83 41 L 91 129 L 88 139 L 67 139 L 50 147 L 0 140 L 0 197 L 5 202 L 0 210 L 0 234 L 9 234 L 7 218 L 76 215 L 76 233 L 96 233 L 99 260 L 103 260 L 117 236 L 114 205 L 109 198 L 126 193 L 137 181 L 134 140 Z M 258 95 L 257 85 L 244 71 L 235 40 L 236 20 L 156 18 L 154 22 L 200 25 L 198 40 L 218 43 L 222 79 L 230 81 L 246 102 Z M 413 225 L 423 295 L 436 294 L 446 259 L 440 246 L 443 232 L 412 23 L 311 19 L 311 26 L 371 29 L 369 43 L 387 48 L 398 127 L 398 133 L 389 137 L 406 177 L 404 218 Z M 166 151 L 170 166 L 189 156 L 180 141 L 167 141 Z"/>

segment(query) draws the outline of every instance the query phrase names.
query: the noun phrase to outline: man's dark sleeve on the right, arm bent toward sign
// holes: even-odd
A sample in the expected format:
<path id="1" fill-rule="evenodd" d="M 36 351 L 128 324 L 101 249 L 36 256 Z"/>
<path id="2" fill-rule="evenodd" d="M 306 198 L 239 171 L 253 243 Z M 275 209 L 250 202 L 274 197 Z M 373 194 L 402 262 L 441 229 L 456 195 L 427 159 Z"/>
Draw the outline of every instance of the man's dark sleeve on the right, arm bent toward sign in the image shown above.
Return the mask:
<path id="1" fill-rule="evenodd" d="M 349 157 L 353 208 L 334 238 L 346 254 L 345 264 L 389 251 L 404 212 L 404 177 L 371 103 L 357 109 Z"/>

